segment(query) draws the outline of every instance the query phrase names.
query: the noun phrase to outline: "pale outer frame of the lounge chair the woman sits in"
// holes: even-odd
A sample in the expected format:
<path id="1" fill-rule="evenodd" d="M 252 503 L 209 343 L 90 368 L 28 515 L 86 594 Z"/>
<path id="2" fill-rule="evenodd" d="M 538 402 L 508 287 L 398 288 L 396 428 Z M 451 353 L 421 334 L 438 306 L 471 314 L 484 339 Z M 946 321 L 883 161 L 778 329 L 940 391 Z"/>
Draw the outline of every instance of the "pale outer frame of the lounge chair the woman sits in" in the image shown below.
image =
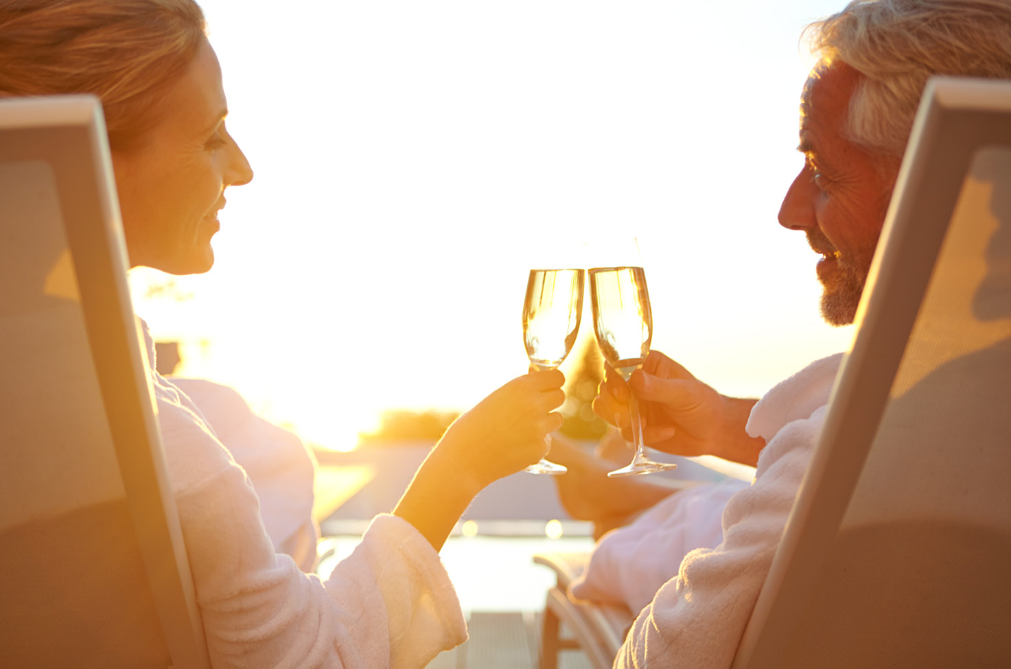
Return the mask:
<path id="1" fill-rule="evenodd" d="M 80 161 L 90 156 L 91 162 Z M 0 160 L 48 163 L 75 263 L 85 328 L 126 504 L 173 665 L 209 668 L 126 284 L 119 202 L 101 103 L 90 95 L 5 100 Z"/>

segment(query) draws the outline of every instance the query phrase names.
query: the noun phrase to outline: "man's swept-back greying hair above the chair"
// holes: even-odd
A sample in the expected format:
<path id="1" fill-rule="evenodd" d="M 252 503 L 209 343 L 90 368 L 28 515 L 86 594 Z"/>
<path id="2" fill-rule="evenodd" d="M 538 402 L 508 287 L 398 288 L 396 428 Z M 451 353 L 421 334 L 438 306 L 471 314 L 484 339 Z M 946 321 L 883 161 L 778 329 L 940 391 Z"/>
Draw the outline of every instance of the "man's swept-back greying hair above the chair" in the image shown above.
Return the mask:
<path id="1" fill-rule="evenodd" d="M 1011 0 L 854 0 L 805 35 L 863 75 L 849 138 L 888 159 L 902 158 L 931 75 L 1011 78 Z"/>

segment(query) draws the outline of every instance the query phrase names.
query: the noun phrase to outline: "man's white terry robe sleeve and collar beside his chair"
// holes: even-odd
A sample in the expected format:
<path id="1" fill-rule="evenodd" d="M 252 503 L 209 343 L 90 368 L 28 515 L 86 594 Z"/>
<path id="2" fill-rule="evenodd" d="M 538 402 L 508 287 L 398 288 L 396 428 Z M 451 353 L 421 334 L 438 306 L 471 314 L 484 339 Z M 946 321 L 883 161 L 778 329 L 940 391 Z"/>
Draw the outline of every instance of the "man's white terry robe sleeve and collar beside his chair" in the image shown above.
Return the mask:
<path id="1" fill-rule="evenodd" d="M 751 616 L 824 422 L 842 354 L 768 391 L 746 429 L 765 439 L 755 480 L 723 511 L 723 543 L 684 556 L 636 618 L 615 667 L 729 667 Z"/>

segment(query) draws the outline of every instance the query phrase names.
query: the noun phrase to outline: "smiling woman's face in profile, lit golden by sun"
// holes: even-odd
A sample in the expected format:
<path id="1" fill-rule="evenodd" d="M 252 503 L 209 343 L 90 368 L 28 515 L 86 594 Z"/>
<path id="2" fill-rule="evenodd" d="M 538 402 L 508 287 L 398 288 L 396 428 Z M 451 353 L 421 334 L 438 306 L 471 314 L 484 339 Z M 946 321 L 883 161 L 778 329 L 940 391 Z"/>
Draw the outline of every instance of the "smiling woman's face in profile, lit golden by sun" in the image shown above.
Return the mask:
<path id="1" fill-rule="evenodd" d="M 250 164 L 224 129 L 227 105 L 206 41 L 158 105 L 162 120 L 139 149 L 113 152 L 130 267 L 206 272 L 224 189 L 249 183 Z"/>

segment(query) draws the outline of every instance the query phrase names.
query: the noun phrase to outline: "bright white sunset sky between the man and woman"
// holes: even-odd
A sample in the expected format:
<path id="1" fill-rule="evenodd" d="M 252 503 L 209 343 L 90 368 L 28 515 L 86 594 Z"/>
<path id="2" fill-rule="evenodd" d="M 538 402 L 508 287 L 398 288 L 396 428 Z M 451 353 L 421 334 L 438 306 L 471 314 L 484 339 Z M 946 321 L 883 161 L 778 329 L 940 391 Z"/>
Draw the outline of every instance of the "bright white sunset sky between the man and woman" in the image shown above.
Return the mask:
<path id="1" fill-rule="evenodd" d="M 848 346 L 775 220 L 800 32 L 841 0 L 201 4 L 256 177 L 226 192 L 213 270 L 183 300 L 134 272 L 136 310 L 181 373 L 306 440 L 524 373 L 528 270 L 616 235 L 639 238 L 653 348 L 721 391 Z"/>

